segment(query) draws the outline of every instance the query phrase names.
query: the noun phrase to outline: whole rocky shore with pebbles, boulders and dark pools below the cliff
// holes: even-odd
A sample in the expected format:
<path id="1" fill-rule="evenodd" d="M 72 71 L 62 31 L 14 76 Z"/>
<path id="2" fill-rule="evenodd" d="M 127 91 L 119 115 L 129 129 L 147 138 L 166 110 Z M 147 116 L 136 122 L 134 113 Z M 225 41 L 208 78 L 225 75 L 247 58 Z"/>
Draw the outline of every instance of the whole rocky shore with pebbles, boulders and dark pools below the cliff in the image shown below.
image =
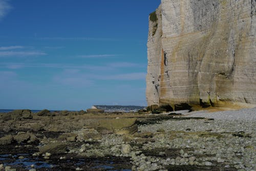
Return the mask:
<path id="1" fill-rule="evenodd" d="M 0 170 L 255 170 L 256 108 L 0 114 Z"/>

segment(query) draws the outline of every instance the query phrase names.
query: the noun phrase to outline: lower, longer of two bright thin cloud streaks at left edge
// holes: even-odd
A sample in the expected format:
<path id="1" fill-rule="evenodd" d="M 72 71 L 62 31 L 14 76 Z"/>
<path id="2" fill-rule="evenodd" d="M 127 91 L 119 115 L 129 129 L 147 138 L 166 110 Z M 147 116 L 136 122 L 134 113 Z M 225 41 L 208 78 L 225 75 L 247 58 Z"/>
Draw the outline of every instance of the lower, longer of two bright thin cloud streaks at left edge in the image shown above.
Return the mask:
<path id="1" fill-rule="evenodd" d="M 39 56 L 39 55 L 47 55 L 44 52 L 38 51 L 0 51 L 0 57 L 7 56 Z"/>

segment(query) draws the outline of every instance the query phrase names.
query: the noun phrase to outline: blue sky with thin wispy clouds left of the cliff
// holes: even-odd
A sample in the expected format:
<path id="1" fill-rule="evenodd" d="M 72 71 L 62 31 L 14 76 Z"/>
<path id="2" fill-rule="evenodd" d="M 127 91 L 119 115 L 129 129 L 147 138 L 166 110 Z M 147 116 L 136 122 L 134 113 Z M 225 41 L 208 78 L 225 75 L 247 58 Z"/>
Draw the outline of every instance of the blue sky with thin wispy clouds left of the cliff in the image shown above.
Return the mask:
<path id="1" fill-rule="evenodd" d="M 0 109 L 146 105 L 160 0 L 0 0 Z"/>

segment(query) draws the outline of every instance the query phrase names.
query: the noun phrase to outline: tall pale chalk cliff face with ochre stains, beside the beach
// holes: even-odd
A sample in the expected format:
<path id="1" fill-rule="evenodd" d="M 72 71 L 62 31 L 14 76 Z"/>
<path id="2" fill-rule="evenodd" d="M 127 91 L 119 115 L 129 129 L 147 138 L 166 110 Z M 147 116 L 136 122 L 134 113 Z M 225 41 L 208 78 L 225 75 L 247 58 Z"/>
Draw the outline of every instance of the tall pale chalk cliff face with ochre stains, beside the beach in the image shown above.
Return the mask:
<path id="1" fill-rule="evenodd" d="M 162 0 L 149 17 L 148 105 L 256 104 L 255 14 L 255 0 Z"/>

